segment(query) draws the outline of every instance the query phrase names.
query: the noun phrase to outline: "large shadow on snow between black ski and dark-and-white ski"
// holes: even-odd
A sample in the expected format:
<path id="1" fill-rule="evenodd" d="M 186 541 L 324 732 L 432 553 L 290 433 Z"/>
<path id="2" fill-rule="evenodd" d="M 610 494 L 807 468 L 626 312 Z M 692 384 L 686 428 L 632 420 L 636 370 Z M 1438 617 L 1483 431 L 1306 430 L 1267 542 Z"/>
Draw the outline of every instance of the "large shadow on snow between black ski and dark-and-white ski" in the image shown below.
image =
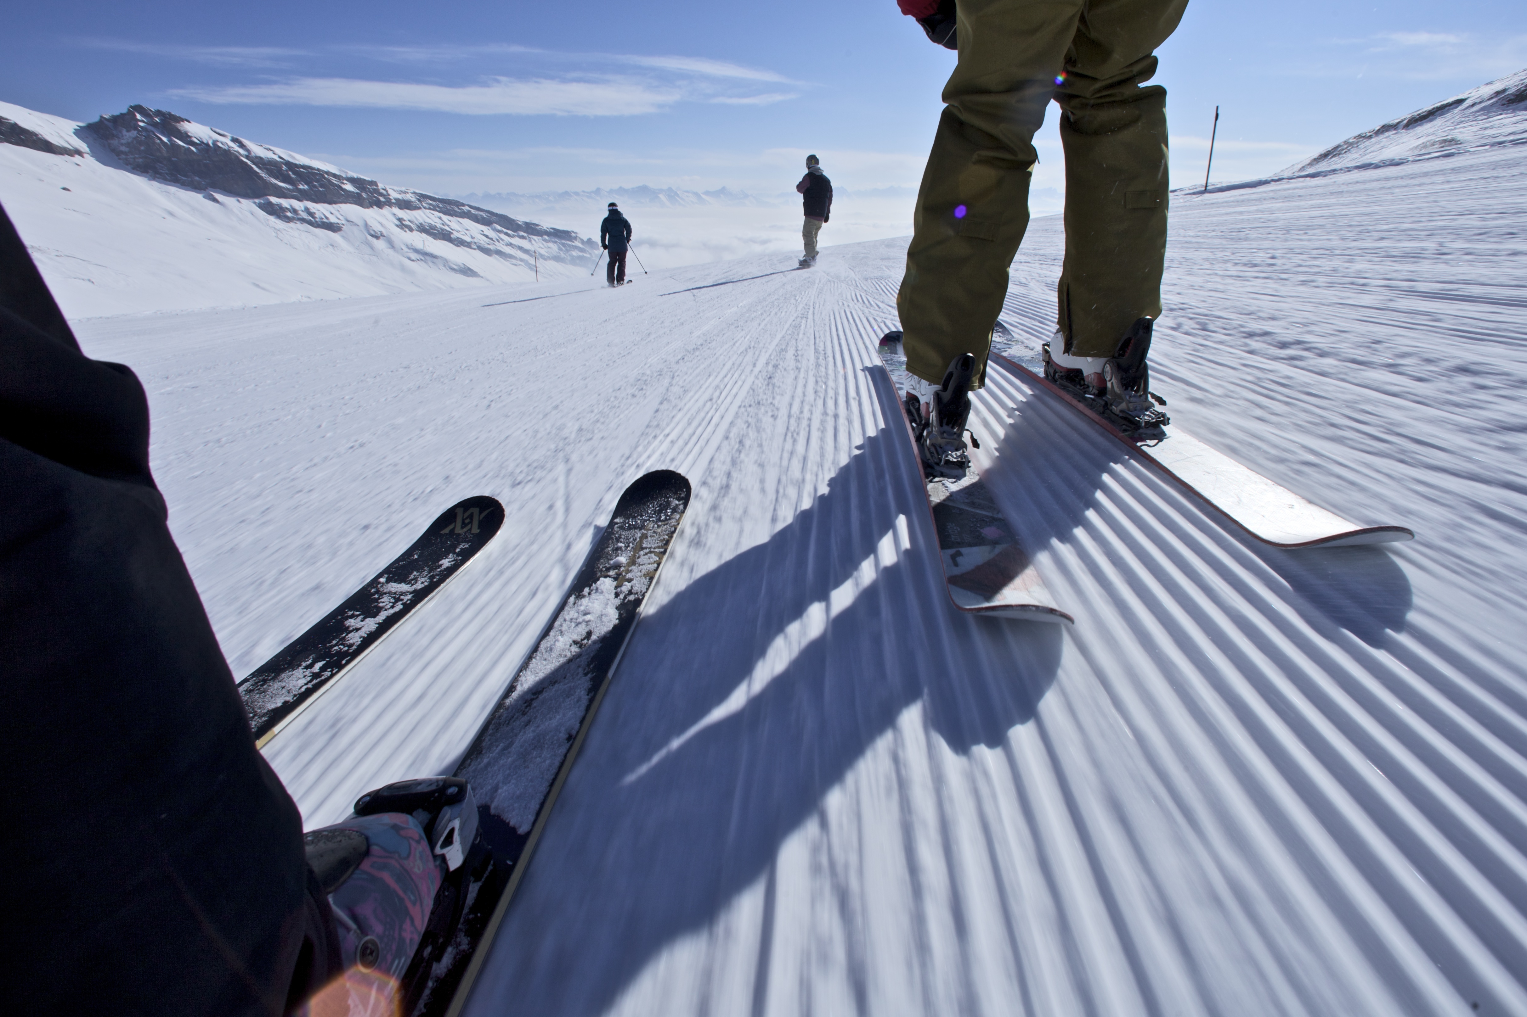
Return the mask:
<path id="1" fill-rule="evenodd" d="M 476 999 L 606 1012 L 760 880 L 768 950 L 774 866 L 825 799 L 927 808 L 927 788 L 866 786 L 866 754 L 936 780 L 941 747 L 1003 745 L 1034 718 L 1063 626 L 948 603 L 919 492 L 887 478 L 915 470 L 901 441 L 890 428 L 866 438 L 786 527 L 641 620 Z M 892 551 L 899 516 L 913 547 Z M 846 858 L 860 835 L 843 832 Z"/>

